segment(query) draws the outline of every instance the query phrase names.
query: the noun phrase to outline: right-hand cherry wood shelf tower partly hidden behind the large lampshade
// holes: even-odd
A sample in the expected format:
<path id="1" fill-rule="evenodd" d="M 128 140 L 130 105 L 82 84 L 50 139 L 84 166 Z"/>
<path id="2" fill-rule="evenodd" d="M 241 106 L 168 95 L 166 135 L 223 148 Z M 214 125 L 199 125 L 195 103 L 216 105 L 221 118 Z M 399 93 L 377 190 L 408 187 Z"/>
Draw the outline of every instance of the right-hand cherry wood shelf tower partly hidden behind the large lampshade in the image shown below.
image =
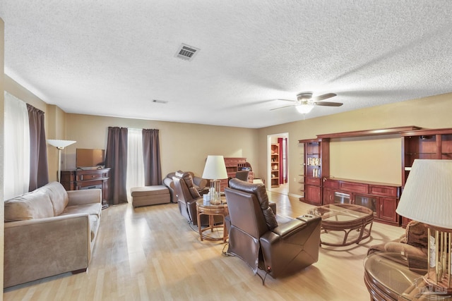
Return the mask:
<path id="1" fill-rule="evenodd" d="M 402 187 L 405 187 L 415 159 L 452 159 L 452 128 L 410 130 L 401 133 L 401 136 Z M 402 226 L 409 221 L 402 217 Z"/>

